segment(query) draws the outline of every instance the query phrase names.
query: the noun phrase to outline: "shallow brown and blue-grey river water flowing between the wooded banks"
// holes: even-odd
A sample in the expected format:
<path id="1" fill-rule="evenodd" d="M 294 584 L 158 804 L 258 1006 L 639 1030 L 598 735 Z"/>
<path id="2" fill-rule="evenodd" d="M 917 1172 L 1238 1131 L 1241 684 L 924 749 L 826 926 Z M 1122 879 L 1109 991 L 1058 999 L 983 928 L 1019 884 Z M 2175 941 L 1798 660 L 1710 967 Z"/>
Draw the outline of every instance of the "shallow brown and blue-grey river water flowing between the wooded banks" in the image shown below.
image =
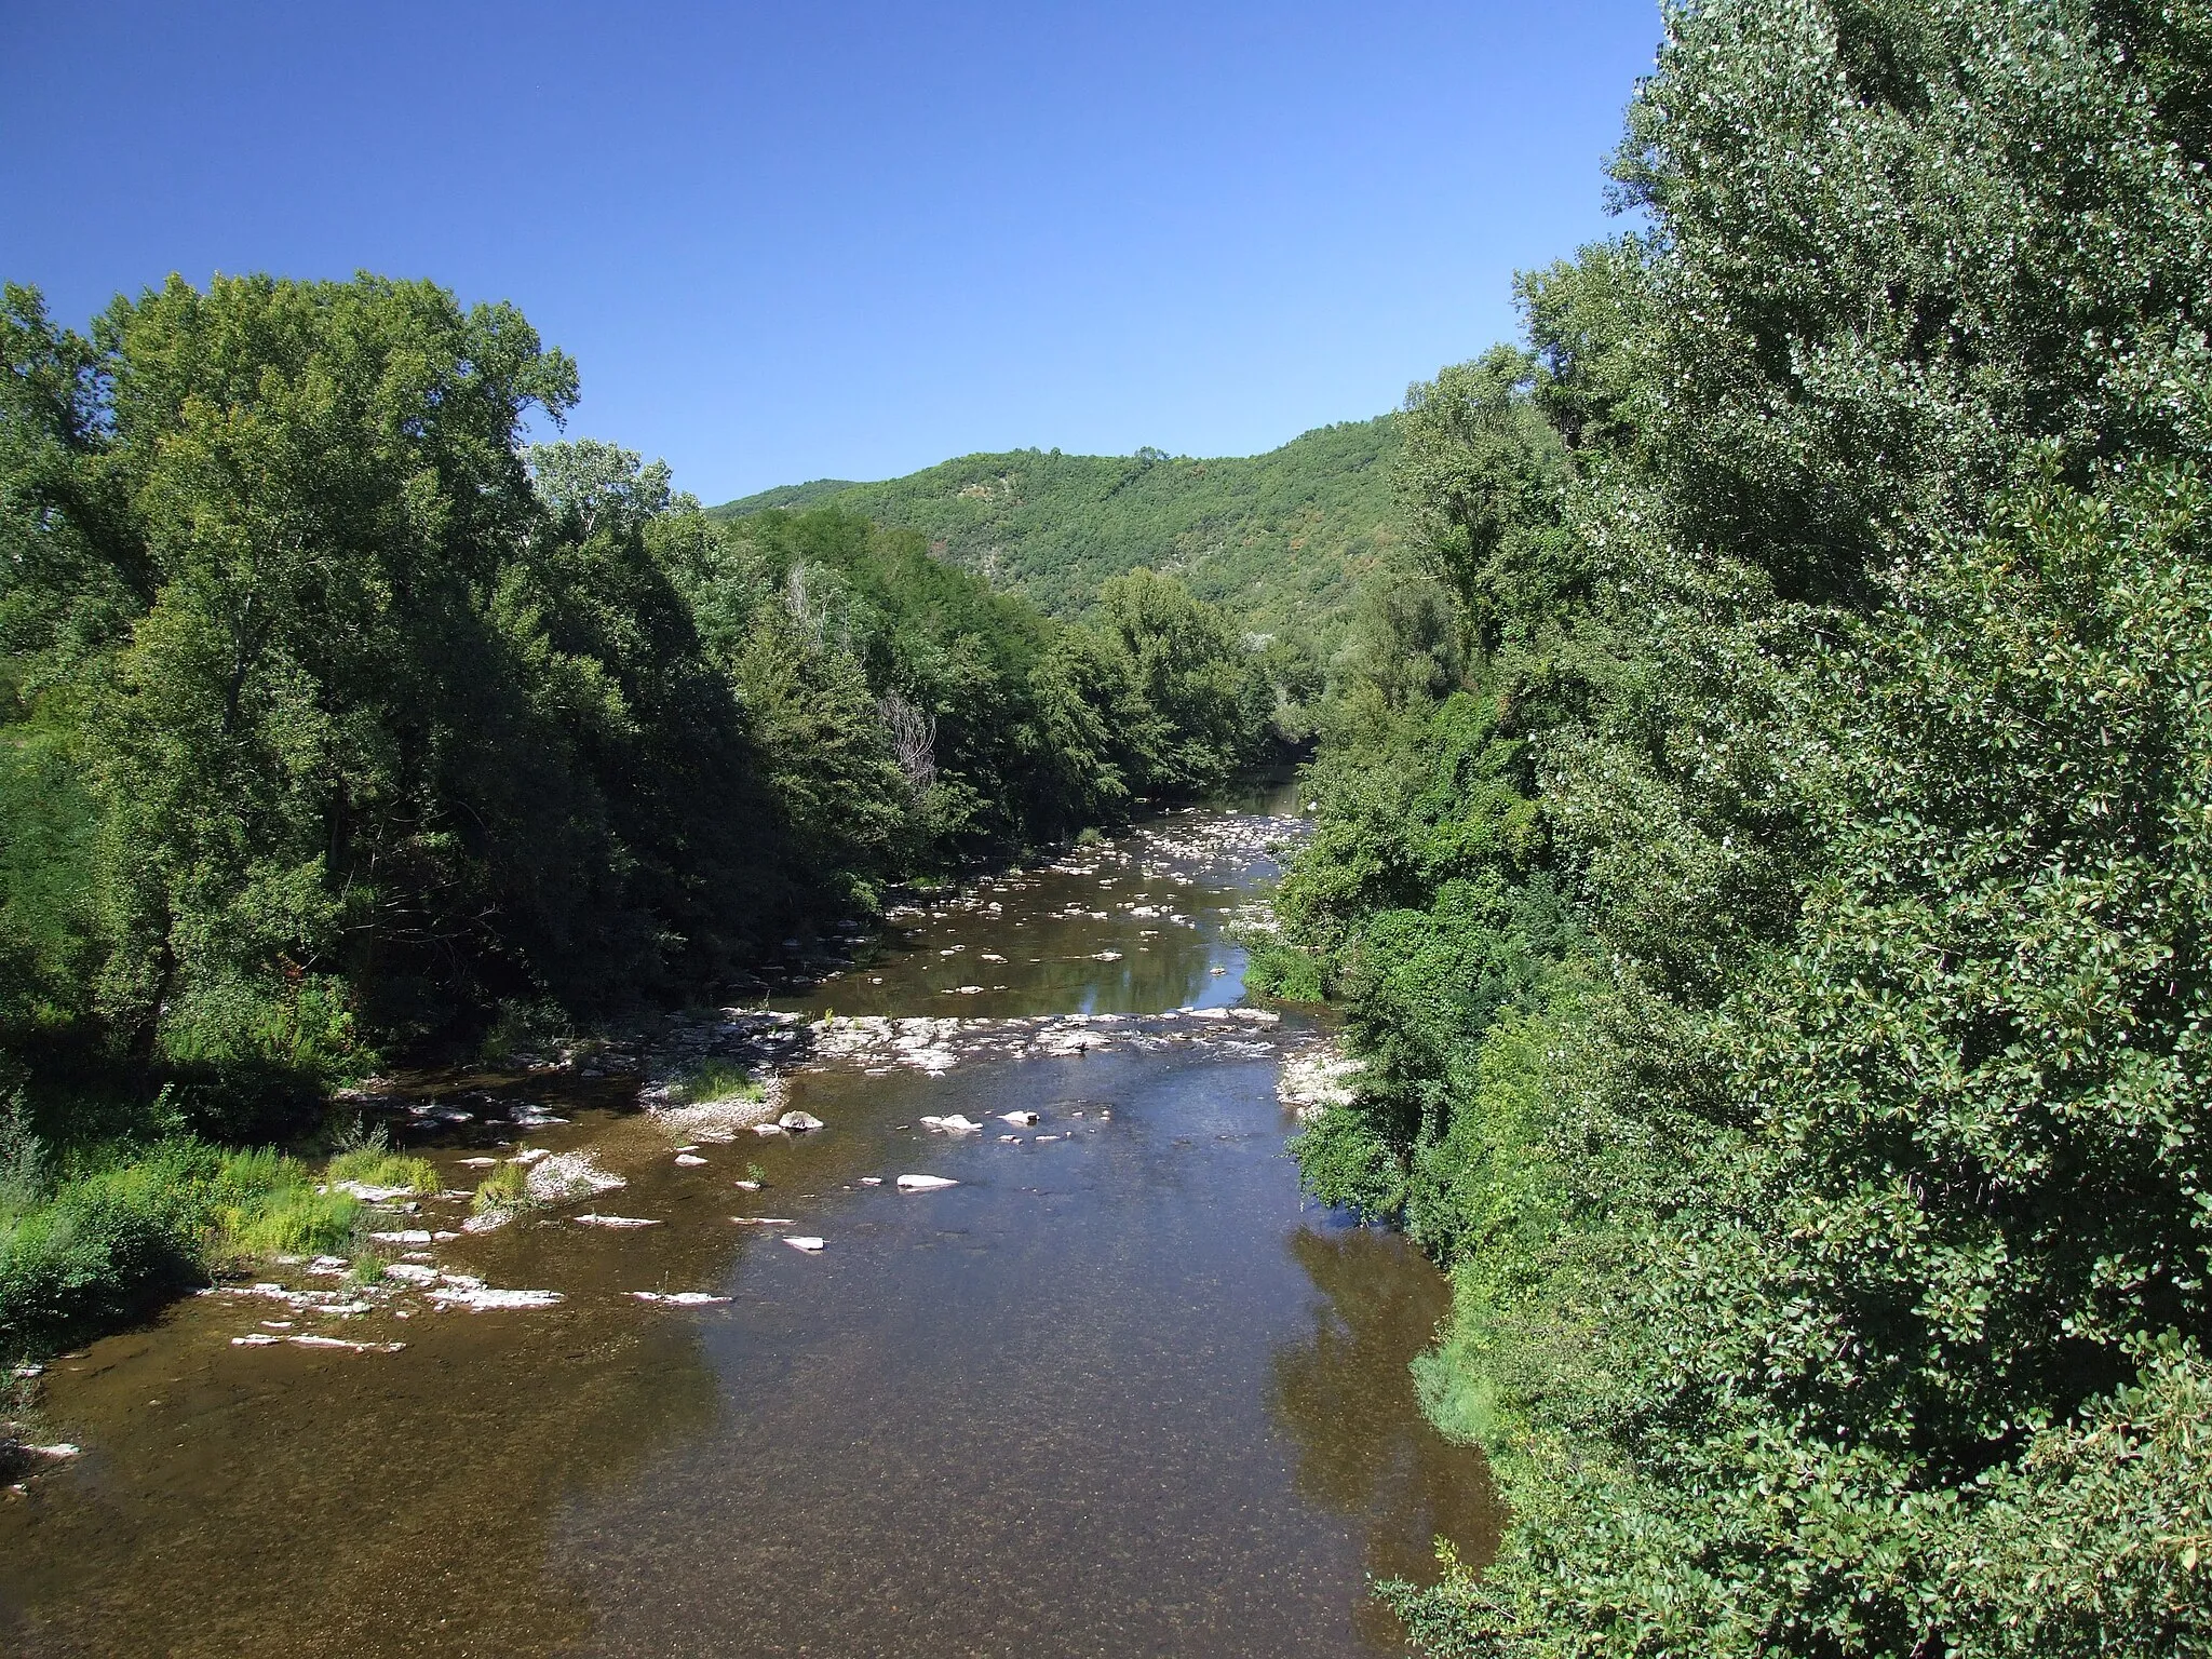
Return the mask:
<path id="1" fill-rule="evenodd" d="M 1369 1577 L 1498 1515 L 1407 1371 L 1442 1279 L 1283 1157 L 1318 1033 L 1237 1006 L 1225 931 L 1298 830 L 1265 805 L 900 914 L 776 1022 L 405 1079 L 456 1192 L 529 1148 L 624 1186 L 482 1234 L 429 1201 L 378 1223 L 431 1234 L 405 1281 L 292 1263 L 55 1363 L 84 1451 L 0 1500 L 0 1650 L 1398 1652 Z M 712 1051 L 825 1126 L 637 1108 Z"/>

